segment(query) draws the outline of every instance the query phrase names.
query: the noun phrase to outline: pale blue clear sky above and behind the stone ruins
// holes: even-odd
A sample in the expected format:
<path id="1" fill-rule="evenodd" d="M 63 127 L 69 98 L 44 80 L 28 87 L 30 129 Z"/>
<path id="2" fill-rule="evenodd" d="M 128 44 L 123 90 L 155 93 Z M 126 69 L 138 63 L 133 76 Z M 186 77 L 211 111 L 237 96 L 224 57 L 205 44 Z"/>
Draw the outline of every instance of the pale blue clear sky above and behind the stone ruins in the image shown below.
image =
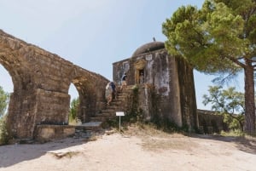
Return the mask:
<path id="1" fill-rule="evenodd" d="M 182 5 L 199 9 L 203 0 L 0 0 L 0 29 L 27 43 L 112 80 L 112 64 L 131 57 L 145 43 L 164 42 L 161 25 Z M 8 71 L 0 65 L 0 85 L 12 92 Z M 195 71 L 198 108 L 211 80 Z M 243 78 L 236 83 L 243 89 Z M 77 95 L 71 87 L 69 94 Z"/>

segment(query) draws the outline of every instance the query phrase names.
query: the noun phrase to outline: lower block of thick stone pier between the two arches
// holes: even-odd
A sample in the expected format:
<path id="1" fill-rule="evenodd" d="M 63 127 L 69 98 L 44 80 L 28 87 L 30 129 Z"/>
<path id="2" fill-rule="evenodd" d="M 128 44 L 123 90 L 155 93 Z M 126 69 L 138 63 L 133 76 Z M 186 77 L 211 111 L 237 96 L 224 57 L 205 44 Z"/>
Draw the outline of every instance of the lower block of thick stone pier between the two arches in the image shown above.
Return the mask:
<path id="1" fill-rule="evenodd" d="M 68 94 L 44 89 L 27 94 L 11 94 L 8 130 L 10 138 L 32 139 L 38 124 L 67 124 Z"/>

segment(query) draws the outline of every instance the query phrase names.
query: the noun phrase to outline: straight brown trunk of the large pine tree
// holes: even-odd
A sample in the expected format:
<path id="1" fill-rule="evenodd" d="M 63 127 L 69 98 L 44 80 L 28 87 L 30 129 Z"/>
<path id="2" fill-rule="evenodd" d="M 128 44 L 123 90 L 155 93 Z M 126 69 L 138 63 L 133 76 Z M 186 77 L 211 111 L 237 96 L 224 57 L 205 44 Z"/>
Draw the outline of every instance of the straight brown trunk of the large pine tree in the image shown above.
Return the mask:
<path id="1" fill-rule="evenodd" d="M 245 74 L 245 132 L 255 133 L 255 100 L 254 100 L 254 80 L 253 66 L 250 60 L 246 60 L 247 66 L 244 68 Z"/>

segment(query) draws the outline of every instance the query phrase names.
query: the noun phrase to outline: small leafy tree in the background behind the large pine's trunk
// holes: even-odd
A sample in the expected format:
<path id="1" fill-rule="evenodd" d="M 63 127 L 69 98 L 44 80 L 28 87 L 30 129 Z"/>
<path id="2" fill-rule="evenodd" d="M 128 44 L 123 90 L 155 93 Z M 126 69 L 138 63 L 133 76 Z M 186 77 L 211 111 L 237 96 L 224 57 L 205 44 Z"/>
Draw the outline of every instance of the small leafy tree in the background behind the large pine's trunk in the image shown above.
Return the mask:
<path id="1" fill-rule="evenodd" d="M 203 95 L 203 104 L 212 105 L 213 111 L 218 111 L 224 116 L 224 123 L 230 128 L 243 129 L 244 123 L 244 94 L 237 92 L 236 88 L 222 89 L 221 86 L 210 86 L 209 94 Z"/>

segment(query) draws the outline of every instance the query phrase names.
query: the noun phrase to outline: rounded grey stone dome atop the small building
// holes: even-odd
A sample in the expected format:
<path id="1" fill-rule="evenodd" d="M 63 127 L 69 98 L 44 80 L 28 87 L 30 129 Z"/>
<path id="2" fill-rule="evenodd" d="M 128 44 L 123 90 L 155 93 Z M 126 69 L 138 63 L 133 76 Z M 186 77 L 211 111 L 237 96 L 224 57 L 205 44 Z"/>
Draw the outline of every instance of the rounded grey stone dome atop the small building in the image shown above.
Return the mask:
<path id="1" fill-rule="evenodd" d="M 162 42 L 146 43 L 140 48 L 137 48 L 137 50 L 132 54 L 132 56 L 137 56 L 139 54 L 144 54 L 144 53 L 158 50 L 161 48 L 165 48 L 165 43 L 162 43 Z"/>

